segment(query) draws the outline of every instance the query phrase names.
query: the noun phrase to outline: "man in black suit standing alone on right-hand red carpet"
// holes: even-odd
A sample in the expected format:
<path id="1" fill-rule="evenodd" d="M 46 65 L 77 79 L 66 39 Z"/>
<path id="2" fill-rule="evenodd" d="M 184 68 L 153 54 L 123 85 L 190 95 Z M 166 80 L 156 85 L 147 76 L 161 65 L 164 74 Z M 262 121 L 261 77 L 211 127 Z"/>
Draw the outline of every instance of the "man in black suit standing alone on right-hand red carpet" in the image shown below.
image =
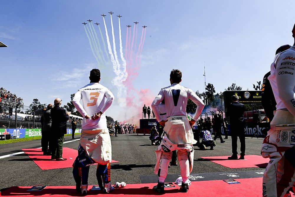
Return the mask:
<path id="1" fill-rule="evenodd" d="M 232 156 L 228 159 L 238 159 L 237 157 L 237 137 L 241 143 L 241 154 L 239 159 L 245 159 L 245 126 L 244 119 L 245 105 L 239 103 L 239 97 L 237 95 L 232 96 L 232 103 L 227 108 L 227 114 L 230 116 L 230 131 L 232 134 Z"/>

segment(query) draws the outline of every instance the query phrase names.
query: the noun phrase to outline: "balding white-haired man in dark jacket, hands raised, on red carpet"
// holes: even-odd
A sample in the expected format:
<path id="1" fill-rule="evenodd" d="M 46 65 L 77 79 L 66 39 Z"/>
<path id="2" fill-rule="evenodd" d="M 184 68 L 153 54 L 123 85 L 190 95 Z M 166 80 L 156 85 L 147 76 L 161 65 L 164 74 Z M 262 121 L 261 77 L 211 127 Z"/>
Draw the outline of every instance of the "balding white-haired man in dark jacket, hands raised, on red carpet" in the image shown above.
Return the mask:
<path id="1" fill-rule="evenodd" d="M 52 118 L 51 133 L 52 133 L 52 152 L 51 159 L 57 161 L 67 160 L 63 158 L 63 137 L 67 133 L 67 121 L 71 112 L 65 112 L 65 109 L 61 108 L 62 100 L 56 98 L 54 100 L 54 107 L 50 110 Z"/>

